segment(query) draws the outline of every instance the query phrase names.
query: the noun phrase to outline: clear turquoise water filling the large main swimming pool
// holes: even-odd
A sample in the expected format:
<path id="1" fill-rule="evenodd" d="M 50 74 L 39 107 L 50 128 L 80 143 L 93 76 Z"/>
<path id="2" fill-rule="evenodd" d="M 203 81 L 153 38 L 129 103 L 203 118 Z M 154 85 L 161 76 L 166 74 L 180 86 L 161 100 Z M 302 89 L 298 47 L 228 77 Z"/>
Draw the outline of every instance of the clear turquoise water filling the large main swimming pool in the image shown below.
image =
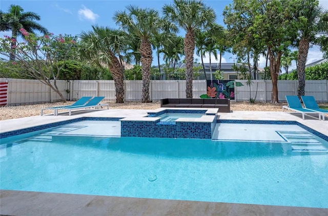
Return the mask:
<path id="1" fill-rule="evenodd" d="M 328 154 L 290 142 L 45 139 L 0 145 L 1 189 L 328 208 Z"/>

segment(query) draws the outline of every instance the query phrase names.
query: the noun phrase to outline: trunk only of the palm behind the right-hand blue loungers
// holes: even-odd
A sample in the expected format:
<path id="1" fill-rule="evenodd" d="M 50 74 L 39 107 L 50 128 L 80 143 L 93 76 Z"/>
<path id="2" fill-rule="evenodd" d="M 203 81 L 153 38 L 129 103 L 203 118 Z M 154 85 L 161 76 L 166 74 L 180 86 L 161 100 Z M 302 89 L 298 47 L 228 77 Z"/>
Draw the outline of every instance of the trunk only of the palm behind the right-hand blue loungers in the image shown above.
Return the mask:
<path id="1" fill-rule="evenodd" d="M 308 38 L 301 38 L 298 46 L 298 90 L 297 94 L 300 98 L 305 94 L 305 63 L 306 58 L 308 57 L 310 42 Z"/>

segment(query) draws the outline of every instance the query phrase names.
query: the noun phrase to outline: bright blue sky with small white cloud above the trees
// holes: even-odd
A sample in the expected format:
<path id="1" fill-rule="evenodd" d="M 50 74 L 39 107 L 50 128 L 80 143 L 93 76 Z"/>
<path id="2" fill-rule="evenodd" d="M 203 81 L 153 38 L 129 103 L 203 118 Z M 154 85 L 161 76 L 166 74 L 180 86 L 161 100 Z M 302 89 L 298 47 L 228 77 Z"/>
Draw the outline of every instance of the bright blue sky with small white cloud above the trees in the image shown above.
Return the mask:
<path id="1" fill-rule="evenodd" d="M 161 12 L 161 8 L 165 4 L 171 4 L 173 1 L 159 1 L 159 0 L 130 0 L 130 1 L 8 1 L 2 0 L 0 9 L 7 11 L 11 4 L 21 6 L 24 11 L 32 11 L 40 15 L 41 20 L 38 23 L 46 27 L 50 32 L 57 34 L 71 34 L 78 35 L 81 31 L 91 30 L 92 25 L 108 26 L 111 28 L 118 28 L 114 21 L 113 15 L 116 11 L 123 11 L 128 5 L 135 5 L 140 8 L 153 8 Z M 212 7 L 217 15 L 217 23 L 224 26 L 222 11 L 226 5 L 232 3 L 227 0 L 212 0 L 204 1 L 206 5 Z M 320 0 L 320 4 L 328 9 L 328 0 Z M 9 32 L 1 32 L 0 36 L 10 35 Z M 182 30 L 180 35 L 185 36 Z M 200 59 L 195 55 L 195 58 Z M 308 56 L 308 63 L 319 60 L 322 58 L 322 53 L 318 47 L 311 48 Z M 212 57 L 212 62 L 215 62 Z M 209 62 L 209 58 L 204 59 Z M 225 54 L 222 62 L 233 62 L 234 56 Z M 264 57 L 260 58 L 260 67 L 264 66 Z M 156 64 L 154 58 L 153 64 Z M 293 65 L 294 66 L 294 65 Z M 293 67 L 292 66 L 292 67 Z"/>

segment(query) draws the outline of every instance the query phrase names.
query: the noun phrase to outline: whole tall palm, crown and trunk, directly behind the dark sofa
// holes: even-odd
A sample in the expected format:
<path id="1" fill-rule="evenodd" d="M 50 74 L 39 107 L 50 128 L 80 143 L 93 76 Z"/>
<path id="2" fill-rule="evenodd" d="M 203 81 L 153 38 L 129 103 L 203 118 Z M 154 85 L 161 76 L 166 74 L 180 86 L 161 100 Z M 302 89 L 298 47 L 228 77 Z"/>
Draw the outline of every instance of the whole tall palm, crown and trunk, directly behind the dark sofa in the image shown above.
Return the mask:
<path id="1" fill-rule="evenodd" d="M 186 31 L 186 97 L 193 97 L 193 62 L 195 31 L 209 28 L 215 23 L 216 15 L 212 8 L 197 0 L 174 0 L 173 5 L 163 6 L 164 18 Z"/>

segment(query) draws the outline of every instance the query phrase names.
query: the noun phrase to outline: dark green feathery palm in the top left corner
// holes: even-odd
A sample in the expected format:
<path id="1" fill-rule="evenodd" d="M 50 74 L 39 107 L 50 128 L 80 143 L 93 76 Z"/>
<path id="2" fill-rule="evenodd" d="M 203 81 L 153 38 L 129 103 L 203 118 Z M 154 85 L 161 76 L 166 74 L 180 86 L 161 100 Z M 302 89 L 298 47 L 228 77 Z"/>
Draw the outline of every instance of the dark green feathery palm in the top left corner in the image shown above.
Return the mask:
<path id="1" fill-rule="evenodd" d="M 34 33 L 35 30 L 46 34 L 48 30 L 35 22 L 40 20 L 40 16 L 34 12 L 24 12 L 24 9 L 18 5 L 10 5 L 8 12 L 0 12 L 0 30 L 10 31 L 12 41 L 11 46 L 16 46 L 17 35 L 22 36 L 19 29 L 25 29 L 27 32 Z M 15 54 L 11 53 L 9 60 L 15 60 Z"/>

